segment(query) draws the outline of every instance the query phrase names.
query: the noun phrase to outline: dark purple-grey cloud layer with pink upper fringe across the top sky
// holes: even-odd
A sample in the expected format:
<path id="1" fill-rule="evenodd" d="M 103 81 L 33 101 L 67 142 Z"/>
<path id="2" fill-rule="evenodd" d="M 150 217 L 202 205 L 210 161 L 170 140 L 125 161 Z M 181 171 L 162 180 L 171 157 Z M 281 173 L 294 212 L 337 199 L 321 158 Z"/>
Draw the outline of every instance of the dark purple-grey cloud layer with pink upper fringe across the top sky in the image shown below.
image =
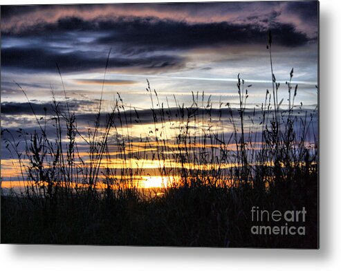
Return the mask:
<path id="1" fill-rule="evenodd" d="M 113 48 L 113 70 L 174 71 L 186 68 L 188 50 L 265 46 L 268 30 L 284 48 L 315 43 L 317 2 L 4 6 L 1 66 L 92 71 Z"/>

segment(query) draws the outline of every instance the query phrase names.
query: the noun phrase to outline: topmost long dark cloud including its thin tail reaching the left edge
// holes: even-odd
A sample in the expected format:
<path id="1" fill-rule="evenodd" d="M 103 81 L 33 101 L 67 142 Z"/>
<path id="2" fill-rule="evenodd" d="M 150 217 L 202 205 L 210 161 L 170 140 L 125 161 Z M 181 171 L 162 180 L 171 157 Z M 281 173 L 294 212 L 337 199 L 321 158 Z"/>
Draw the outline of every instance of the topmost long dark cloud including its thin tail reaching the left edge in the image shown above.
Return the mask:
<path id="1" fill-rule="evenodd" d="M 270 16 L 270 15 L 269 15 Z M 271 15 L 276 16 L 276 15 Z M 271 17 L 270 16 L 270 17 Z M 274 42 L 283 46 L 301 46 L 308 42 L 303 32 L 292 24 L 273 23 Z M 268 29 L 249 23 L 231 24 L 226 21 L 189 24 L 185 21 L 157 19 L 156 17 L 118 17 L 86 21 L 77 17 L 59 19 L 53 24 L 39 23 L 22 28 L 20 32 L 4 30 L 4 37 L 46 37 L 64 39 L 63 32 L 96 31 L 104 37 L 95 44 L 123 44 L 124 48 L 145 47 L 151 50 L 165 48 L 197 48 L 224 44 L 266 44 Z M 95 45 L 93 44 L 93 45 Z"/>

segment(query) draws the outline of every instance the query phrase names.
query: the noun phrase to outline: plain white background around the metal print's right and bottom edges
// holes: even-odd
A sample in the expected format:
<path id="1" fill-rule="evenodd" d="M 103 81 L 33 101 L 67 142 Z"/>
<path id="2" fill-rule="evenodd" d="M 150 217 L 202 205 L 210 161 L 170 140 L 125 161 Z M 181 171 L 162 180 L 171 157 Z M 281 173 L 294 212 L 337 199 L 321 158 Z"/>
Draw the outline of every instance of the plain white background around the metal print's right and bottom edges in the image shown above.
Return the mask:
<path id="1" fill-rule="evenodd" d="M 1 4 L 91 2 L 95 3 L 6 0 Z M 0 245 L 1 270 L 338 270 L 341 266 L 340 3 L 320 1 L 320 250 Z"/>

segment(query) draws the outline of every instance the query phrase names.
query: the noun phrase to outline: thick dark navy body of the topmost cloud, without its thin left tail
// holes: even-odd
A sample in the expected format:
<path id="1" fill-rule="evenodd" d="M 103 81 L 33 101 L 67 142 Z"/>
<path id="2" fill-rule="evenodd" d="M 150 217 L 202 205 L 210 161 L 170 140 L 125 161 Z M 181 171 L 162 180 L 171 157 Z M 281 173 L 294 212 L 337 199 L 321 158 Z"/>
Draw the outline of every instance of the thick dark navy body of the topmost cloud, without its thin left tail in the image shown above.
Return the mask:
<path id="1" fill-rule="evenodd" d="M 201 46 L 266 44 L 268 30 L 250 24 L 234 25 L 227 22 L 188 24 L 185 21 L 133 18 L 123 21 L 104 21 L 104 29 L 113 29 L 99 44 L 122 42 L 131 46 L 150 48 L 198 48 Z M 291 24 L 271 26 L 274 41 L 282 46 L 301 46 L 307 43 L 304 33 Z"/>

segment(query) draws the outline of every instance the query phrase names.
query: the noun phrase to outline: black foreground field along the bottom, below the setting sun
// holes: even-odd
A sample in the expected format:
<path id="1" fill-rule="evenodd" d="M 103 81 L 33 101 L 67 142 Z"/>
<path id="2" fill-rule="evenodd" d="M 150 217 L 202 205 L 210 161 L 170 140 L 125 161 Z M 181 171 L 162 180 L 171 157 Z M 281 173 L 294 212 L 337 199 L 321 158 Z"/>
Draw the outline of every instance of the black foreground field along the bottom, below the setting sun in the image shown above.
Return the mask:
<path id="1" fill-rule="evenodd" d="M 251 234 L 252 206 L 305 207 L 305 235 Z M 317 225 L 316 175 L 288 190 L 198 186 L 149 199 L 130 189 L 116 196 L 1 197 L 1 243 L 316 248 Z"/>

